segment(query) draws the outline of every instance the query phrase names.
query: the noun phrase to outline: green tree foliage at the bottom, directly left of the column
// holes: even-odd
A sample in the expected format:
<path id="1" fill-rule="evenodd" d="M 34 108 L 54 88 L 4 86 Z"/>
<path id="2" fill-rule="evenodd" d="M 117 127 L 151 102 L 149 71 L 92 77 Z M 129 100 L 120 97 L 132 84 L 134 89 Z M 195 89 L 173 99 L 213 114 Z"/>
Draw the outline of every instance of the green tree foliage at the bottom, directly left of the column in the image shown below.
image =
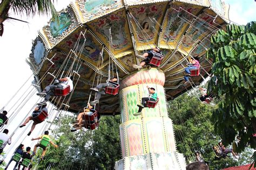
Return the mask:
<path id="1" fill-rule="evenodd" d="M 38 169 L 113 169 L 115 161 L 122 159 L 120 154 L 120 116 L 102 117 L 97 130 L 70 132 L 72 117 L 65 115 L 56 122 L 57 144 L 50 146 L 45 161 Z"/>

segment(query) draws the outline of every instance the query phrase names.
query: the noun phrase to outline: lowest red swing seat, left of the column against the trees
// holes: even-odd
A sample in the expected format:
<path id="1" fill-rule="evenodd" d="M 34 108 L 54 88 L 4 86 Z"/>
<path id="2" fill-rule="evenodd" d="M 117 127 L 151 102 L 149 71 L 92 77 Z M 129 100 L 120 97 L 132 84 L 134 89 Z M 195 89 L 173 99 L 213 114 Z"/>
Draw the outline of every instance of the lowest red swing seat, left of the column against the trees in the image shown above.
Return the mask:
<path id="1" fill-rule="evenodd" d="M 83 120 L 84 120 L 83 125 L 85 128 L 87 128 L 89 130 L 95 130 L 95 128 L 99 126 L 99 122 L 97 121 L 98 120 L 98 118 L 97 118 L 98 112 L 91 108 L 89 108 L 89 109 L 92 112 L 92 114 L 83 115 Z M 85 108 L 84 108 L 84 110 L 85 110 Z M 84 113 L 86 113 L 86 112 L 84 111 Z"/>

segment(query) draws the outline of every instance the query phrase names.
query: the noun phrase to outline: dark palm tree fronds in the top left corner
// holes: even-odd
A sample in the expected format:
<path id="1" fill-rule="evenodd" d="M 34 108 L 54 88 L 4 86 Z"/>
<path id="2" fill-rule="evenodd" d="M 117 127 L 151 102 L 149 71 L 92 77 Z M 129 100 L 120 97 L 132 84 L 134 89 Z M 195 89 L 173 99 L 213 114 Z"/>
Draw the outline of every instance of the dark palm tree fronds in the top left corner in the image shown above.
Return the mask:
<path id="1" fill-rule="evenodd" d="M 54 1 L 54 0 L 52 0 Z M 4 25 L 6 19 L 15 19 L 9 17 L 9 10 L 12 9 L 15 13 L 24 13 L 27 16 L 48 15 L 51 12 L 52 17 L 58 19 L 57 11 L 53 6 L 51 0 L 2 0 L 0 1 L 0 36 L 3 35 Z M 19 19 L 15 19 L 21 21 Z"/>

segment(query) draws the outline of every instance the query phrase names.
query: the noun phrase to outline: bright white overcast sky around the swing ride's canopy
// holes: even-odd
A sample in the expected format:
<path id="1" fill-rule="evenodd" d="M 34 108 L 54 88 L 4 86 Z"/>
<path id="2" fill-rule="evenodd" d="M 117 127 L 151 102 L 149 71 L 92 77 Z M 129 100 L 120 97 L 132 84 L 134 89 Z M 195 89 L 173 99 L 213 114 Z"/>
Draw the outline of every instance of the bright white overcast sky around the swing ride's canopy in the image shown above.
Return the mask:
<path id="1" fill-rule="evenodd" d="M 256 21 L 256 3 L 254 0 L 226 0 L 225 2 L 231 5 L 231 21 L 238 24 Z M 68 0 L 57 1 L 56 9 L 58 11 L 62 10 L 69 3 L 70 1 Z M 49 16 L 27 18 L 25 16 L 14 15 L 13 13 L 10 16 L 28 21 L 29 24 L 12 20 L 4 22 L 4 34 L 0 37 L 0 109 L 24 83 L 25 79 L 32 74 L 29 65 L 25 63 L 25 58 L 29 57 L 31 53 L 32 40 L 37 37 L 37 31 L 46 25 L 50 19 Z M 37 99 L 38 97 L 35 97 L 35 100 Z M 31 106 L 28 106 L 28 108 L 30 110 Z M 21 117 L 22 114 L 27 113 L 19 113 Z M 10 128 L 15 128 L 16 126 Z M 25 132 L 25 135 L 27 133 L 28 130 Z M 31 137 L 35 137 L 35 135 L 36 133 L 34 135 L 32 134 Z"/>

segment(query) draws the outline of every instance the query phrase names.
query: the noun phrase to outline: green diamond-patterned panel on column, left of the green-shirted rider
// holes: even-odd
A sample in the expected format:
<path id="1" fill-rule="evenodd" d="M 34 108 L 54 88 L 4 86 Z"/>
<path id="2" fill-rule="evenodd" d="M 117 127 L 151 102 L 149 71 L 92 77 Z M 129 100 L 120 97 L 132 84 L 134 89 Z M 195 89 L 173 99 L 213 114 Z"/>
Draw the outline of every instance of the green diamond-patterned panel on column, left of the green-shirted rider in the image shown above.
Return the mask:
<path id="1" fill-rule="evenodd" d="M 126 98 L 126 111 L 128 112 L 128 119 L 133 120 L 136 119 L 136 117 L 133 115 L 134 113 L 138 112 L 138 106 L 139 103 L 138 97 L 137 97 L 137 90 L 131 90 L 128 92 L 125 96 Z"/>

